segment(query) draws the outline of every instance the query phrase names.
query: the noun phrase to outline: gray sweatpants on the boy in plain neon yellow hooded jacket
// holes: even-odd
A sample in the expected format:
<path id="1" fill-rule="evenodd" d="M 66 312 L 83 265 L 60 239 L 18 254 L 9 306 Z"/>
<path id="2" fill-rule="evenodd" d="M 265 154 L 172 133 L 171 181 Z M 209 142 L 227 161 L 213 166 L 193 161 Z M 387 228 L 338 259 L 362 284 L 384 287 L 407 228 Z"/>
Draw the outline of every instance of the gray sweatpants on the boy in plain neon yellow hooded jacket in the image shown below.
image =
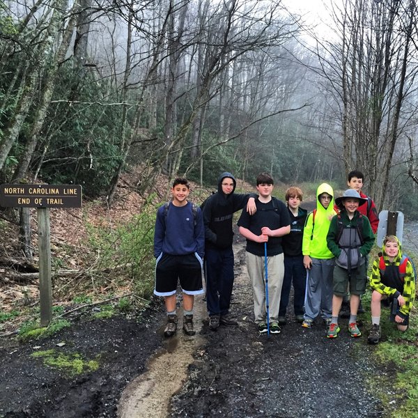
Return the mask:
<path id="1" fill-rule="evenodd" d="M 319 314 L 331 318 L 334 258 L 312 258 L 311 270 L 307 271 L 304 318 L 314 320 Z"/>

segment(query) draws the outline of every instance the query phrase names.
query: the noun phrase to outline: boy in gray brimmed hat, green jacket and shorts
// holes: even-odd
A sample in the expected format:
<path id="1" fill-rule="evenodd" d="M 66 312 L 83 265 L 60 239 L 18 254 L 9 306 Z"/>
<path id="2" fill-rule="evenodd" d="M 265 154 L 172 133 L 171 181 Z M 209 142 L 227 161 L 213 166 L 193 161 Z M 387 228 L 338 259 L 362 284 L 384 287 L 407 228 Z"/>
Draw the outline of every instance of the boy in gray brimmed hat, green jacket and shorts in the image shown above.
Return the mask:
<path id="1" fill-rule="evenodd" d="M 340 331 L 338 316 L 343 295 L 350 284 L 350 336 L 362 335 L 357 326 L 357 310 L 360 295 L 366 290 L 366 256 L 373 247 L 374 234 L 369 219 L 357 211 L 366 199 L 355 189 L 348 189 L 343 196 L 335 199 L 341 212 L 331 219 L 327 234 L 327 247 L 335 256 L 334 295 L 332 296 L 332 320 L 327 338 L 336 338 Z"/>

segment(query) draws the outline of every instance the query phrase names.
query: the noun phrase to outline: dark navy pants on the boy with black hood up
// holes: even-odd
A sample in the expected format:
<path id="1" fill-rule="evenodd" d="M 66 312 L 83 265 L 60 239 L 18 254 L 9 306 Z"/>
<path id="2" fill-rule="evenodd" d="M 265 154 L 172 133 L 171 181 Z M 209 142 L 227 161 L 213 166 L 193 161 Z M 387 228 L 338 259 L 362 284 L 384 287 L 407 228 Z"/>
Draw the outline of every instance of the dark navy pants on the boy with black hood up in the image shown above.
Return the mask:
<path id="1" fill-rule="evenodd" d="M 229 313 L 233 288 L 233 249 L 205 249 L 206 304 L 209 315 Z"/>

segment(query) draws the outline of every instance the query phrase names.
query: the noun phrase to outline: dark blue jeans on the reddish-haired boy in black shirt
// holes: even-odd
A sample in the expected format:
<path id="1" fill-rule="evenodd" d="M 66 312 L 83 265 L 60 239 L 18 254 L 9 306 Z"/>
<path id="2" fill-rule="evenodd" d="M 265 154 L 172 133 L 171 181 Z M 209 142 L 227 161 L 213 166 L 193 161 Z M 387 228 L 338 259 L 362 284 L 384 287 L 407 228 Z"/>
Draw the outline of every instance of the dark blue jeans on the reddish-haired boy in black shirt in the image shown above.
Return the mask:
<path id="1" fill-rule="evenodd" d="M 305 288 L 307 285 L 307 270 L 303 265 L 303 256 L 284 256 L 284 279 L 281 287 L 279 316 L 286 316 L 289 295 L 293 281 L 293 308 L 295 315 L 304 314 Z"/>

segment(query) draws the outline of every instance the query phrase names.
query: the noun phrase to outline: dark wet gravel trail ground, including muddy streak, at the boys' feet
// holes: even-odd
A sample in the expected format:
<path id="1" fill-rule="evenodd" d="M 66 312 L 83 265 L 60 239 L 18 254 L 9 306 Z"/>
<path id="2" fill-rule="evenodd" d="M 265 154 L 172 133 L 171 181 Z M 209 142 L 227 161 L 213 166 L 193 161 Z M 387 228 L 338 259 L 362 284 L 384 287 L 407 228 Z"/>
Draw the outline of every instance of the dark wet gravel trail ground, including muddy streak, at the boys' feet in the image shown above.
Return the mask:
<path id="1" fill-rule="evenodd" d="M 197 300 L 196 336 L 179 330 L 164 340 L 164 311 L 156 301 L 141 320 L 78 317 L 51 339 L 1 339 L 0 417 L 388 416 L 369 382 L 382 375 L 390 381 L 394 371 L 373 364 L 366 321 L 361 338 L 350 338 L 342 320 L 339 338 L 330 340 L 323 323 L 304 330 L 289 312 L 281 334 L 259 335 L 242 244 L 235 254 L 231 312 L 238 327 L 209 330 Z M 70 378 L 31 357 L 52 348 L 98 359 L 100 367 Z M 384 390 L 394 398 L 390 385 Z"/>

